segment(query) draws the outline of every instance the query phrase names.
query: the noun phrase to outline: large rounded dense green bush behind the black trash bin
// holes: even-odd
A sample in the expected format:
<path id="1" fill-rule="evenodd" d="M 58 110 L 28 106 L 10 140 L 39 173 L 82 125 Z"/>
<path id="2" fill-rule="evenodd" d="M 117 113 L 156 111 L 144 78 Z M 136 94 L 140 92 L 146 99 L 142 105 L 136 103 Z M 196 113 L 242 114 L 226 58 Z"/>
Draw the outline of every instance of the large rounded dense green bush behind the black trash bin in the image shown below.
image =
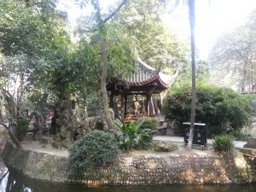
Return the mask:
<path id="1" fill-rule="evenodd" d="M 176 133 L 183 133 L 183 122 L 190 121 L 191 87 L 174 87 L 164 102 L 166 119 L 176 125 Z M 195 122 L 207 124 L 209 134 L 220 135 L 240 131 L 250 124 L 249 102 L 234 90 L 198 82 L 196 87 Z"/>

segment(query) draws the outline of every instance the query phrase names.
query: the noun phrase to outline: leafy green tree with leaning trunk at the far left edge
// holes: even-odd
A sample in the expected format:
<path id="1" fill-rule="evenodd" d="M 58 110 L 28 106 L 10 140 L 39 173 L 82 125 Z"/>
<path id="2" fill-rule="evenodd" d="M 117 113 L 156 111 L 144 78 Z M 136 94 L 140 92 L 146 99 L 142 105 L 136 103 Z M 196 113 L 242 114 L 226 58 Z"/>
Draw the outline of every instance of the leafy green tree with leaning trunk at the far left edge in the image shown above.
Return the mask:
<path id="1" fill-rule="evenodd" d="M 60 13 L 55 11 L 55 0 L 3 0 L 0 9 L 1 105 L 9 113 L 9 125 L 3 121 L 1 124 L 20 147 L 16 138 L 19 121 L 29 120 L 28 113 L 35 112 L 35 108 L 24 107 L 24 102 L 33 90 L 41 90 L 38 93 L 42 102 L 46 102 L 49 90 L 55 85 L 56 70 L 62 70 L 62 62 L 67 61 L 68 37 Z"/>

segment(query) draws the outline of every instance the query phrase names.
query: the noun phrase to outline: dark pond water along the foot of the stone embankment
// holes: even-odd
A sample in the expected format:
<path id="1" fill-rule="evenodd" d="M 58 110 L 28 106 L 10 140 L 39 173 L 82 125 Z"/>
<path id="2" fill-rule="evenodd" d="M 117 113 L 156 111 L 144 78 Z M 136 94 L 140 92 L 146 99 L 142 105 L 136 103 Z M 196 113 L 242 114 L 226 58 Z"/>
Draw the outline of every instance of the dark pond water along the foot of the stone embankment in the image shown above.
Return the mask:
<path id="1" fill-rule="evenodd" d="M 4 175 L 5 174 L 5 175 Z M 65 185 L 41 183 L 21 176 L 8 169 L 0 161 L 0 192 L 255 192 L 256 184 L 252 185 L 165 185 L 140 187 L 94 187 L 82 185 Z"/>

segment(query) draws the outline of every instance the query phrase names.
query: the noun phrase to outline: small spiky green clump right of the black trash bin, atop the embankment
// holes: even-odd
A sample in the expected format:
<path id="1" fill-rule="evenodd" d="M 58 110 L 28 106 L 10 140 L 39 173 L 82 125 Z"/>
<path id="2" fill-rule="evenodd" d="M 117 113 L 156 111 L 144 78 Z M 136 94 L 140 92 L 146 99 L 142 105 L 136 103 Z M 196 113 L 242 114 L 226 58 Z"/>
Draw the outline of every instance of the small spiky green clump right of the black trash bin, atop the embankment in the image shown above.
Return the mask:
<path id="1" fill-rule="evenodd" d="M 234 150 L 232 137 L 218 136 L 214 138 L 213 142 L 214 151 L 222 154 L 231 154 Z"/>

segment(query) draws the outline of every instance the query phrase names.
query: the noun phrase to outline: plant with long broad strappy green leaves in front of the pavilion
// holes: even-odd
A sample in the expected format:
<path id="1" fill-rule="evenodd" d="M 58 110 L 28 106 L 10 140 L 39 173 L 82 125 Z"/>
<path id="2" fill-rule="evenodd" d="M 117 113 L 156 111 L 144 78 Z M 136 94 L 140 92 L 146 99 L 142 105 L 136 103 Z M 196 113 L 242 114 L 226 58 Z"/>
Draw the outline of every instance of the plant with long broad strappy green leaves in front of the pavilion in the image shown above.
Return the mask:
<path id="1" fill-rule="evenodd" d="M 119 142 L 119 148 L 122 150 L 131 150 L 132 148 L 148 148 L 152 142 L 153 130 L 148 128 L 141 129 L 143 121 L 128 121 L 121 117 L 121 121 L 116 123 L 117 131 L 115 137 Z"/>

